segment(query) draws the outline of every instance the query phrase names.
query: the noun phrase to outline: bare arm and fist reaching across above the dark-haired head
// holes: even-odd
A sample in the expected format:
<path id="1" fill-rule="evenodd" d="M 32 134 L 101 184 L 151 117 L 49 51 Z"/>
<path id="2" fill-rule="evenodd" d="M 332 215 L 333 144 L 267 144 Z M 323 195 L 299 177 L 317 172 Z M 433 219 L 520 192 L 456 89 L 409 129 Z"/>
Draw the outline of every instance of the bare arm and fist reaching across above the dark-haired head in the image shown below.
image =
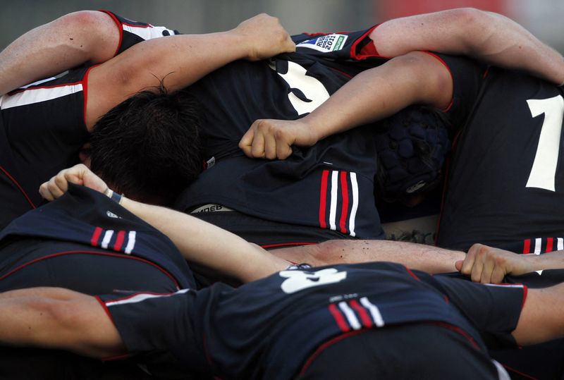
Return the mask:
<path id="1" fill-rule="evenodd" d="M 88 76 L 86 124 L 140 90 L 167 90 L 192 84 L 237 59 L 257 61 L 294 51 L 295 44 L 277 18 L 261 14 L 228 32 L 151 39 L 92 69 Z"/>

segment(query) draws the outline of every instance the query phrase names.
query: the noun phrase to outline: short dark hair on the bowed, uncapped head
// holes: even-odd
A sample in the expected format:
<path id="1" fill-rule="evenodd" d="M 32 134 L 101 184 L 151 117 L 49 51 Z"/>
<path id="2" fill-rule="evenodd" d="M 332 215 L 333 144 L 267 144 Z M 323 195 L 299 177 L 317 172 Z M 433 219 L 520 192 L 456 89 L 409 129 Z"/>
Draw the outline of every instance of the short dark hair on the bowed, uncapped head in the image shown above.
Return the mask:
<path id="1" fill-rule="evenodd" d="M 142 91 L 102 116 L 91 168 L 117 192 L 170 204 L 202 171 L 201 105 L 188 90 Z"/>

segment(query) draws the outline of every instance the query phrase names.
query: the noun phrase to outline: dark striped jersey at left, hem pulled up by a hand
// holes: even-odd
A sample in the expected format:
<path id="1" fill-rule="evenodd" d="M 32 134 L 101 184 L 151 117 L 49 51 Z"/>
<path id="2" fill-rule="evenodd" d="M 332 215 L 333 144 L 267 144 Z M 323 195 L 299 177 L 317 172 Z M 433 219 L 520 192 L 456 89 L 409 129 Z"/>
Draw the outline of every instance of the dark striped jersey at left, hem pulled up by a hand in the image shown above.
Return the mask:
<path id="1" fill-rule="evenodd" d="M 114 259 L 107 265 L 123 268 L 124 277 L 125 271 L 135 271 L 136 265 L 133 263 L 139 262 L 164 274 L 167 283 L 173 283 L 174 288 L 195 286 L 188 264 L 165 235 L 108 197 L 72 184 L 68 193 L 59 200 L 27 212 L 4 228 L 0 233 L 0 245 L 2 287 L 18 272 L 25 273 L 33 266 L 49 266 L 49 262 L 55 263 L 55 269 L 51 271 L 52 276 L 56 281 L 63 283 L 63 277 L 69 274 L 65 275 L 66 271 L 62 266 L 59 273 L 56 263 L 64 264 L 61 258 L 72 259 L 73 256 L 85 255 Z M 133 265 L 131 269 L 128 269 L 129 263 Z M 95 289 L 105 286 L 116 289 L 115 283 L 122 283 L 119 278 L 106 278 L 107 269 L 104 269 L 102 264 L 87 269 L 71 268 L 70 275 L 73 271 L 82 270 L 94 274 L 94 278 L 98 273 L 99 281 L 91 285 L 92 290 L 89 293 L 93 290 L 99 292 Z M 106 278 L 109 283 L 102 283 L 102 278 Z M 37 283 L 41 281 L 38 278 L 28 278 L 27 281 L 20 283 L 20 287 L 48 285 Z M 77 281 L 87 280 L 82 278 Z M 142 278 L 140 281 L 142 282 Z M 75 285 L 83 286 L 79 283 Z M 128 286 L 127 283 L 125 286 Z M 134 288 L 134 285 L 130 285 L 123 290 L 145 288 L 150 286 Z"/>

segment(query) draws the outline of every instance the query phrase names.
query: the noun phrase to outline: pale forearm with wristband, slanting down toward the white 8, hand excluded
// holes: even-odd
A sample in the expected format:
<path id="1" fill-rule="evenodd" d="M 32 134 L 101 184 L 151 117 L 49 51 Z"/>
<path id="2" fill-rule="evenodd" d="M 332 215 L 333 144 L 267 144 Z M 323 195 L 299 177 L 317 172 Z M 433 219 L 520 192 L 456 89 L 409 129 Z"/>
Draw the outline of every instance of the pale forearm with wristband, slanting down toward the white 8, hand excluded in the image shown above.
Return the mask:
<path id="1" fill-rule="evenodd" d="M 288 266 L 261 247 L 187 214 L 125 198 L 122 205 L 167 235 L 185 259 L 240 281 L 253 281 Z"/>

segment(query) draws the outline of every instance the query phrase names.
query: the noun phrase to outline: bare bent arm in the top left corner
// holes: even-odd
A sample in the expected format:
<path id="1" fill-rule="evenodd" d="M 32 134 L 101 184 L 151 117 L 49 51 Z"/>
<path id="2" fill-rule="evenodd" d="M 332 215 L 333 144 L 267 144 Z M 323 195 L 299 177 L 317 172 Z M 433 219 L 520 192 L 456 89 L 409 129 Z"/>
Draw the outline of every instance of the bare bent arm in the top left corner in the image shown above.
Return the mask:
<path id="1" fill-rule="evenodd" d="M 25 33 L 0 53 L 0 94 L 90 61 L 114 56 L 119 32 L 109 15 L 80 11 Z"/>

